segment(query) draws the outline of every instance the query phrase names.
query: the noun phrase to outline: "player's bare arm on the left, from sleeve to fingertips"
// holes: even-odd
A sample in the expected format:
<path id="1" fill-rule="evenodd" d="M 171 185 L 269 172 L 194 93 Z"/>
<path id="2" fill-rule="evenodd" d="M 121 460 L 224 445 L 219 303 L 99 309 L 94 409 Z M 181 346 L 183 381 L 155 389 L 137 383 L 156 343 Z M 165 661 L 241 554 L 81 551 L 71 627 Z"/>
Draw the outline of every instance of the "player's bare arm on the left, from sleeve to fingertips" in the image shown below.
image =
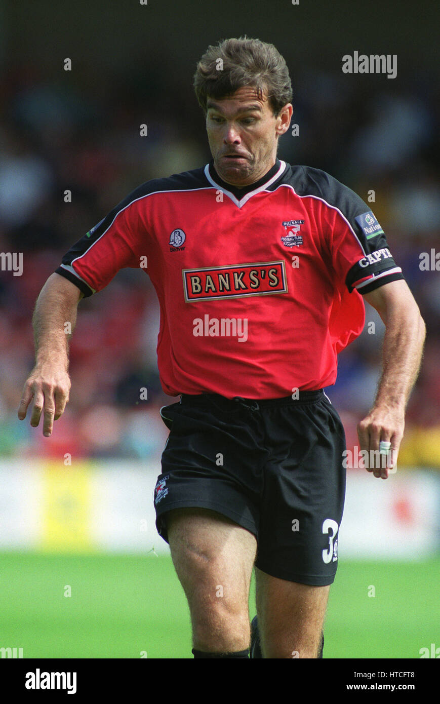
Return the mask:
<path id="1" fill-rule="evenodd" d="M 69 341 L 75 329 L 77 306 L 84 296 L 72 282 L 52 274 L 39 293 L 34 308 L 35 365 L 30 372 L 18 408 L 24 420 L 32 398 L 30 425 L 37 427 L 43 413 L 43 434 L 51 435 L 54 420 L 69 400 Z"/>

